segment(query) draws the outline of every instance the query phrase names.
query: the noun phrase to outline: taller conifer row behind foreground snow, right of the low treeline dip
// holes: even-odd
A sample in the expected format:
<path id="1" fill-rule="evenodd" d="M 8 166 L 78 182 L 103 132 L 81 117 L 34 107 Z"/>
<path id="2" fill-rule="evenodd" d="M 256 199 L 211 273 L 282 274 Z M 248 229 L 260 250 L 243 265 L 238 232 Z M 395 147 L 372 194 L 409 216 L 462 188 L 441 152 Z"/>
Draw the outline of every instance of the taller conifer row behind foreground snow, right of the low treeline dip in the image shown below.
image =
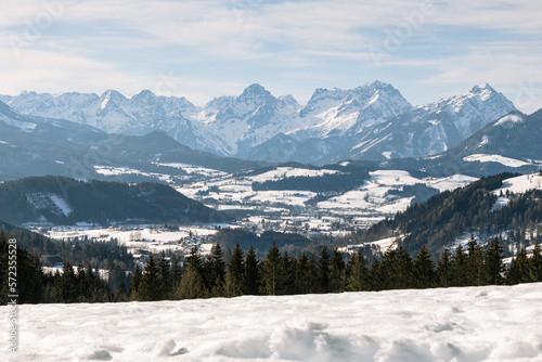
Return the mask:
<path id="1" fill-rule="evenodd" d="M 137 269 L 126 294 L 127 300 L 194 299 L 242 295 L 293 295 L 401 288 L 480 286 L 542 282 L 542 256 L 537 243 L 533 255 L 522 250 L 505 269 L 499 240 L 487 249 L 472 238 L 467 247 L 446 250 L 435 263 L 423 246 L 414 259 L 401 247 L 389 248 L 370 266 L 358 251 L 345 262 L 338 249 L 330 254 L 324 246 L 318 259 L 302 254 L 299 259 L 281 253 L 276 245 L 264 260 L 250 248 L 238 247 L 231 261 L 223 261 L 219 244 L 206 260 L 193 249 L 181 268 L 163 255 L 150 258 L 145 269 Z"/>

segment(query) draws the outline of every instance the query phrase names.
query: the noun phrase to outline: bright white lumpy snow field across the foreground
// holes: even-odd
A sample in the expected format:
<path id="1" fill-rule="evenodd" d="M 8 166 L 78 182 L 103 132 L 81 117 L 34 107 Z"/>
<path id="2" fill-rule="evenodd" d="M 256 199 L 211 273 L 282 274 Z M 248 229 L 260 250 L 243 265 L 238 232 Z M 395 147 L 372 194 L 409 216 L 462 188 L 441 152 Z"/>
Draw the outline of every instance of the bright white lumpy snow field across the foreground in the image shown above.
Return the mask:
<path id="1" fill-rule="evenodd" d="M 18 307 L 8 361 L 542 361 L 542 283 Z M 8 349 L 8 307 L 0 307 Z M 5 361 L 5 359 L 3 359 Z"/>

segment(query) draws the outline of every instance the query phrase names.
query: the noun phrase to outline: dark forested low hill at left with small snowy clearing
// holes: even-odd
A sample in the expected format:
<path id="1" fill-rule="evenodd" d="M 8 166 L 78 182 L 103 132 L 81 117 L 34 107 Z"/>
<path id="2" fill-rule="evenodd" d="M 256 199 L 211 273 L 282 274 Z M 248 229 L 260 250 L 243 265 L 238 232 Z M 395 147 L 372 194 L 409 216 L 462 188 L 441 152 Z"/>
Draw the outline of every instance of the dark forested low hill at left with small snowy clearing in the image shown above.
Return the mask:
<path id="1" fill-rule="evenodd" d="M 33 177 L 0 184 L 0 220 L 41 222 L 222 222 L 227 217 L 158 183 L 126 184 Z"/>

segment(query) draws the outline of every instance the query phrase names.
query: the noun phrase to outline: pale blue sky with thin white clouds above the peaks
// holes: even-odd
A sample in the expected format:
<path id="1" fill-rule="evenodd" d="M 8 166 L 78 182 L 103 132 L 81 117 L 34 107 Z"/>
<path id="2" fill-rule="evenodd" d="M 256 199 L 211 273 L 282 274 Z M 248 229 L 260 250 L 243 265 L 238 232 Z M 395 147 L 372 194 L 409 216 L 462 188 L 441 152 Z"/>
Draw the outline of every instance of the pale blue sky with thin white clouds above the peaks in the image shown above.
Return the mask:
<path id="1" fill-rule="evenodd" d="M 204 105 L 260 83 L 307 102 L 378 79 L 414 105 L 489 82 L 542 107 L 538 0 L 22 0 L 0 14 L 0 94 L 150 89 Z"/>

